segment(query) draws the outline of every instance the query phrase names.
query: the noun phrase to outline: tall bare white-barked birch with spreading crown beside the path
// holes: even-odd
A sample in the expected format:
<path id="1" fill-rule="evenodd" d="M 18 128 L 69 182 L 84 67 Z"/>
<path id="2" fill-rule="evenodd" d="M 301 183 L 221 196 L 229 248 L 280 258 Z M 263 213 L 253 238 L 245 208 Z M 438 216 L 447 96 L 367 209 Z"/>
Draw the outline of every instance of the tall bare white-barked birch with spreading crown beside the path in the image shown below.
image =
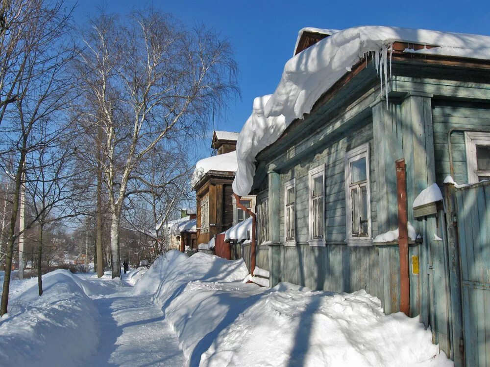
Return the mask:
<path id="1" fill-rule="evenodd" d="M 125 18 L 101 14 L 84 43 L 77 70 L 91 105 L 85 114 L 92 111 L 105 137 L 101 163 L 117 277 L 119 227 L 135 168 L 160 141 L 201 132 L 211 106 L 237 92 L 237 68 L 230 44 L 216 32 L 189 29 L 153 8 Z"/>

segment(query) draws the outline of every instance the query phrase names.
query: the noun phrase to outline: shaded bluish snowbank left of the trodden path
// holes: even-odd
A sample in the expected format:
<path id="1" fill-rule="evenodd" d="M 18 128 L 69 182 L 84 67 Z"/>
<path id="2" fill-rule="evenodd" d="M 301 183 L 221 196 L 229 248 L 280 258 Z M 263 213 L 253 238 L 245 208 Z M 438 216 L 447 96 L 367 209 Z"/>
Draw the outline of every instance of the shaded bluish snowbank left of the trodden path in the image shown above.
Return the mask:
<path id="1" fill-rule="evenodd" d="M 0 319 L 2 366 L 73 366 L 96 351 L 98 311 L 76 276 L 48 273 L 43 287 L 42 297 L 36 283 L 10 299 Z"/>

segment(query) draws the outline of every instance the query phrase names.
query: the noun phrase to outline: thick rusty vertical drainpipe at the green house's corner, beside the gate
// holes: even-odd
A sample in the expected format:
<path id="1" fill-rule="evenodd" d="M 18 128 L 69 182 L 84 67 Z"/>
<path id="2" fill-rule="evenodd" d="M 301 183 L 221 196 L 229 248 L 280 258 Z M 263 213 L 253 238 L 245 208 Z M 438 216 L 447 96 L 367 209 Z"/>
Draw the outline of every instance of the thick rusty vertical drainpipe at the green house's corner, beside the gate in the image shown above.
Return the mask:
<path id="1" fill-rule="evenodd" d="M 400 311 L 410 316 L 410 278 L 408 265 L 407 170 L 405 160 L 396 165 L 396 196 L 398 201 L 398 251 L 400 253 Z"/>

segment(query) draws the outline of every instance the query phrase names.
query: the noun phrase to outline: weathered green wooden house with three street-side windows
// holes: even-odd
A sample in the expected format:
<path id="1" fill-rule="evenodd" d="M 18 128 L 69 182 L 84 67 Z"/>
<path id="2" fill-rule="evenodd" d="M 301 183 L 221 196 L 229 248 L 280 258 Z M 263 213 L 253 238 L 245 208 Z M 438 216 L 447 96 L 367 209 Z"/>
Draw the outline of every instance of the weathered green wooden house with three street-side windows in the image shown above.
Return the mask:
<path id="1" fill-rule="evenodd" d="M 330 32 L 316 33 L 300 36 L 294 53 Z M 476 213 L 466 232 L 442 205 L 417 214 L 412 203 L 433 183 L 444 191 L 448 175 L 460 184 L 490 178 L 490 61 L 447 55 L 437 43 L 391 42 L 380 51 L 391 60 L 387 88 L 373 65 L 379 55 L 368 54 L 255 156 L 256 262 L 270 286 L 365 289 L 397 312 L 398 241 L 373 239 L 398 227 L 395 161 L 404 158 L 408 219 L 420 235 L 409 242 L 410 314 L 457 366 L 488 366 L 489 185 L 471 186 L 480 190 L 473 200 L 455 204 L 459 223 Z M 471 257 L 462 241 L 471 241 Z"/>

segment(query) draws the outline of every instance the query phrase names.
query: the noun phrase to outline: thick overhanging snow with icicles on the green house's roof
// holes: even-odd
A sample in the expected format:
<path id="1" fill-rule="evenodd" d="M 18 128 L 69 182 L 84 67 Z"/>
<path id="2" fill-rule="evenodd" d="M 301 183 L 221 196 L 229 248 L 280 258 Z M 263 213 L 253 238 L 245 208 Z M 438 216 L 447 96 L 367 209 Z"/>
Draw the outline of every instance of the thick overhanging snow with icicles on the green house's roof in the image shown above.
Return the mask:
<path id="1" fill-rule="evenodd" d="M 371 53 L 380 75 L 387 71 L 387 54 L 394 42 L 436 46 L 405 52 L 490 59 L 490 37 L 463 33 L 385 26 L 348 28 L 319 41 L 291 58 L 272 95 L 255 98 L 250 117 L 237 141 L 238 169 L 233 190 L 247 195 L 255 175 L 255 157 L 276 141 L 296 118 L 363 57 Z"/>

